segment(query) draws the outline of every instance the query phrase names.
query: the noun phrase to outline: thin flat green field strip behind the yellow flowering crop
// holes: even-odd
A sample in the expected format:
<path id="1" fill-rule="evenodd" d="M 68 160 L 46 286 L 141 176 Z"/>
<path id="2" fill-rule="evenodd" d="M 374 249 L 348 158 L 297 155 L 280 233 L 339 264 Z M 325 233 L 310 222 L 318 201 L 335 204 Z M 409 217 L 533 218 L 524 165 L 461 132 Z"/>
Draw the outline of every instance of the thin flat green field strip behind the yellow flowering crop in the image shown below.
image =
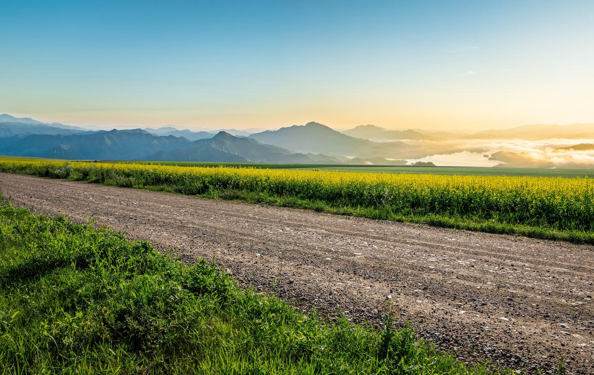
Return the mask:
<path id="1" fill-rule="evenodd" d="M 113 161 L 112 161 L 113 163 Z M 460 174 L 463 176 L 534 176 L 534 177 L 593 177 L 594 169 L 492 168 L 492 167 L 413 167 L 361 166 L 336 164 L 253 164 L 200 163 L 196 161 L 116 161 L 116 163 L 157 164 L 181 167 L 252 167 L 264 169 L 328 170 L 368 173 Z"/>

